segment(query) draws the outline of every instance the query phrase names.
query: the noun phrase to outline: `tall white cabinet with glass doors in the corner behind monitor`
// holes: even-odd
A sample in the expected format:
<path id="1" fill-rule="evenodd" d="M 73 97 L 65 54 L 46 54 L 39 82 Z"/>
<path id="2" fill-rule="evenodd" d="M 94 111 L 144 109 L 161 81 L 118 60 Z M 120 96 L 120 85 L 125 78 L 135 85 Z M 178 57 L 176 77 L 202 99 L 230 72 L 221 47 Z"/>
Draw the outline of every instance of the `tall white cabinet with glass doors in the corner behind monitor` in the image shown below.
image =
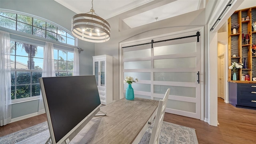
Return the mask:
<path id="1" fill-rule="evenodd" d="M 113 102 L 113 57 L 93 56 L 93 75 L 95 75 L 101 104 Z"/>

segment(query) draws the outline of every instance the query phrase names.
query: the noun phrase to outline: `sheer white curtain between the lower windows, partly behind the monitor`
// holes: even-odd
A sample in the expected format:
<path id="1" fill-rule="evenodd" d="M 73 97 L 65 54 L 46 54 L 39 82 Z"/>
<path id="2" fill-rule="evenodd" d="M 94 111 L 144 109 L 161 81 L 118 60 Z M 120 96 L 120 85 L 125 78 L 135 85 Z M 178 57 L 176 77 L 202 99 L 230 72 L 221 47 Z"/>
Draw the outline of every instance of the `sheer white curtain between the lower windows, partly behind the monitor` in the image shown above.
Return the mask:
<path id="1" fill-rule="evenodd" d="M 54 67 L 54 55 L 53 55 L 53 43 L 46 42 L 44 46 L 44 62 L 43 62 L 43 72 L 42 77 L 53 77 L 55 75 Z M 38 114 L 45 113 L 44 102 L 42 98 L 42 92 L 40 92 L 40 100 L 38 107 Z"/>

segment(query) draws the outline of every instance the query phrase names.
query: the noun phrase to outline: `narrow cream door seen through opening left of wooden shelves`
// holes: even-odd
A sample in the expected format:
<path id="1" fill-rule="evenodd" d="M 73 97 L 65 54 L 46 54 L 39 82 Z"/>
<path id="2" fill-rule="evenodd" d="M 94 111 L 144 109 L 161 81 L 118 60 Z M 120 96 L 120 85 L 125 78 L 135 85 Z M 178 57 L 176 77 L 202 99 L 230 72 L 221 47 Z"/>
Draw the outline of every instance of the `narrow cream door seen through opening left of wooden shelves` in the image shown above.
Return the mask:
<path id="1" fill-rule="evenodd" d="M 220 97 L 225 99 L 225 84 L 224 84 L 224 55 L 220 56 Z"/>

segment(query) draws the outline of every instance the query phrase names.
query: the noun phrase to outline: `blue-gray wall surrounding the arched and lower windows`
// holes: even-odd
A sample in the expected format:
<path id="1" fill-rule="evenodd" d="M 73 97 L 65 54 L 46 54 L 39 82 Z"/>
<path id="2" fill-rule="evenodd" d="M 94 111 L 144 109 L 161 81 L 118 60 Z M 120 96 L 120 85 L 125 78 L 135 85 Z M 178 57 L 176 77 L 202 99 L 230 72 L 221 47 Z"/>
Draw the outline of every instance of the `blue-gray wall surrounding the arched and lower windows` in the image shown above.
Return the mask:
<path id="1" fill-rule="evenodd" d="M 0 9 L 40 17 L 57 26 L 64 27 L 64 30 L 67 32 L 71 31 L 71 19 L 76 14 L 54 0 L 0 0 Z M 2 30 L 4 29 L 2 28 Z M 14 35 L 11 35 L 11 38 L 12 36 Z M 22 34 L 22 36 L 33 38 L 32 35 Z M 19 38 L 18 36 L 15 36 L 15 39 L 24 40 L 24 38 Z M 95 53 L 94 43 L 78 40 L 78 47 L 84 49 L 84 51 L 79 54 L 80 75 L 92 74 L 92 56 L 94 56 Z M 32 114 L 34 112 L 38 112 L 38 100 L 12 104 L 12 118 Z"/>

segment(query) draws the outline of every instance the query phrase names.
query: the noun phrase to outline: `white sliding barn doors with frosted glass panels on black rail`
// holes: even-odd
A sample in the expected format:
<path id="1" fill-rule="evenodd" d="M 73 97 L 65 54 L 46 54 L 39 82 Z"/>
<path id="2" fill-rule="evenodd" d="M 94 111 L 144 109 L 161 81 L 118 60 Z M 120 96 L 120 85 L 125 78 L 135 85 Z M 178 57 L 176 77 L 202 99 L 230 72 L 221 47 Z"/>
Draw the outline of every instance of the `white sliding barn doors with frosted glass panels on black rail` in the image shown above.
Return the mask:
<path id="1" fill-rule="evenodd" d="M 153 46 L 122 49 L 123 76 L 139 79 L 132 84 L 135 97 L 160 100 L 170 88 L 166 112 L 200 119 L 201 43 L 191 37 Z M 123 88 L 125 94 L 127 83 Z"/>

